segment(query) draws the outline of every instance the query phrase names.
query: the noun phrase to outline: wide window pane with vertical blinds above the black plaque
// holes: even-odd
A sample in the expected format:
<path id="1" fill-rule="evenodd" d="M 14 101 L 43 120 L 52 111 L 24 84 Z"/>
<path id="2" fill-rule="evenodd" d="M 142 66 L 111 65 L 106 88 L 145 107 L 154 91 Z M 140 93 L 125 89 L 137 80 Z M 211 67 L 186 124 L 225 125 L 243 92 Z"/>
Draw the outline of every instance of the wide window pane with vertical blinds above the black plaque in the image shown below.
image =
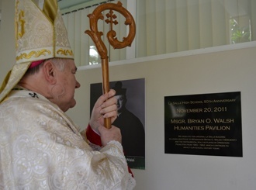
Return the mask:
<path id="1" fill-rule="evenodd" d="M 137 1 L 137 57 L 256 40 L 255 0 Z"/>

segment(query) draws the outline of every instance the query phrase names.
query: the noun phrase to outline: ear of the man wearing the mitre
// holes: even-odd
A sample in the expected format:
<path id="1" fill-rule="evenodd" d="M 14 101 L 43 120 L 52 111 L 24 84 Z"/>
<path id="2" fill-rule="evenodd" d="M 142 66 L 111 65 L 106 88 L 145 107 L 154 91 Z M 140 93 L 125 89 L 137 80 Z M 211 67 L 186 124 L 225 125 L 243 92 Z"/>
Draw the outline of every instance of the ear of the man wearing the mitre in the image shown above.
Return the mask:
<path id="1" fill-rule="evenodd" d="M 57 81 L 57 73 L 56 67 L 54 67 L 54 63 L 50 60 L 46 60 L 43 64 L 43 74 L 46 80 L 51 84 L 54 85 Z"/>

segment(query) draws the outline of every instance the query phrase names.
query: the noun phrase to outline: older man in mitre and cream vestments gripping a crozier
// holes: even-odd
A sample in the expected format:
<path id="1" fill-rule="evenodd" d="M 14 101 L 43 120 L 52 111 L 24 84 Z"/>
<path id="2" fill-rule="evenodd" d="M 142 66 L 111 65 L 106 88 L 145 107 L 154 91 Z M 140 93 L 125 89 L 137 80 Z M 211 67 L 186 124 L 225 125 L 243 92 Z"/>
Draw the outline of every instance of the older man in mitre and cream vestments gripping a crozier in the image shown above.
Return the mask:
<path id="1" fill-rule="evenodd" d="M 103 126 L 116 119 L 115 91 L 86 134 L 65 114 L 80 84 L 56 0 L 16 0 L 16 48 L 0 88 L 0 189 L 132 189 L 120 131 Z"/>

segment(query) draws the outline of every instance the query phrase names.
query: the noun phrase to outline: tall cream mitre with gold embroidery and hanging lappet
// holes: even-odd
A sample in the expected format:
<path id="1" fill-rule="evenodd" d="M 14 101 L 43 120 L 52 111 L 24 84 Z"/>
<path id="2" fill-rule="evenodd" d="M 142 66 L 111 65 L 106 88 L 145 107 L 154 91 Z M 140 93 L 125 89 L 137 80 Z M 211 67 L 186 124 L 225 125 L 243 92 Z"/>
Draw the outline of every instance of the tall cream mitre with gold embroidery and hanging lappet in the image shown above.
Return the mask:
<path id="1" fill-rule="evenodd" d="M 57 0 L 16 0 L 16 64 L 0 88 L 0 102 L 29 65 L 53 57 L 74 59 Z"/>

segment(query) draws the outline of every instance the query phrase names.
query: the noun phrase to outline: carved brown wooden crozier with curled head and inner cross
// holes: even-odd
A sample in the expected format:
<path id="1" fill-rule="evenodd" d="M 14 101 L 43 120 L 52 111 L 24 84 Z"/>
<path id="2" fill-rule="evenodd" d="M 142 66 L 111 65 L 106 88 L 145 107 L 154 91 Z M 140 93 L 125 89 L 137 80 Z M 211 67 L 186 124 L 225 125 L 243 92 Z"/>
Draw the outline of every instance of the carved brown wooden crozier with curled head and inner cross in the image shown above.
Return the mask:
<path id="1" fill-rule="evenodd" d="M 90 29 L 86 30 L 85 33 L 87 33 L 89 36 L 91 36 L 93 42 L 95 43 L 95 47 L 98 50 L 98 53 L 102 60 L 102 91 L 105 94 L 106 92 L 109 92 L 109 57 L 108 57 L 108 51 L 106 49 L 105 44 L 102 41 L 101 36 L 103 35 L 102 32 L 98 31 L 98 20 L 104 19 L 104 16 L 102 15 L 102 12 L 105 10 L 109 10 L 109 13 L 106 14 L 107 19 L 105 20 L 106 23 L 109 23 L 110 29 L 107 33 L 107 38 L 109 40 L 110 45 L 114 49 L 122 49 L 127 46 L 131 46 L 131 43 L 133 42 L 135 33 L 136 33 L 136 26 L 133 19 L 133 16 L 128 12 L 125 8 L 123 8 L 121 2 L 114 3 L 106 3 L 99 5 L 92 14 L 89 14 L 88 17 L 90 19 Z M 113 24 L 117 24 L 118 22 L 114 19 L 116 19 L 116 15 L 113 13 L 113 10 L 116 12 L 119 12 L 122 14 L 126 21 L 124 24 L 129 26 L 129 33 L 128 36 L 123 37 L 123 41 L 119 41 L 116 38 L 116 32 L 112 29 Z M 106 128 L 111 128 L 111 119 L 105 119 L 104 125 Z"/>

